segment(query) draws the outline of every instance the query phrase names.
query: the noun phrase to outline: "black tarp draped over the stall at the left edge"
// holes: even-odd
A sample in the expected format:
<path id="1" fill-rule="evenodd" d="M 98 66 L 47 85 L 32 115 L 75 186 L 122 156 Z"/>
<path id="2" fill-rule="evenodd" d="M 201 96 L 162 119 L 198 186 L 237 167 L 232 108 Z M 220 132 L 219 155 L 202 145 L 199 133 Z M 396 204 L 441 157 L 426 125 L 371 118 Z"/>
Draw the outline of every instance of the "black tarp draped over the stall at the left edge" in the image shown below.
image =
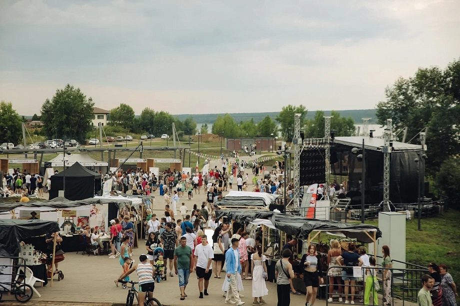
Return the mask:
<path id="1" fill-rule="evenodd" d="M 0 219 L 0 256 L 18 256 L 22 240 L 58 231 L 55 221 Z"/>

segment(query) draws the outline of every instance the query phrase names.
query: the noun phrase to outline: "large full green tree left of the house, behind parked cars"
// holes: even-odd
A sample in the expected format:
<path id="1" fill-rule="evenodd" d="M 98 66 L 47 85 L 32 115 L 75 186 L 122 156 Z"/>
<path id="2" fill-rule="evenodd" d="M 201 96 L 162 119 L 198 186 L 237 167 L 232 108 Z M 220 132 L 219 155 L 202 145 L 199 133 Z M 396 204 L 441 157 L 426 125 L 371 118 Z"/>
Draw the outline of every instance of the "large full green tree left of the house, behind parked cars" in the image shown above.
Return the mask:
<path id="1" fill-rule="evenodd" d="M 42 131 L 48 138 L 83 142 L 86 133 L 92 129 L 93 106 L 92 98 L 86 98 L 79 88 L 67 84 L 41 105 Z"/>

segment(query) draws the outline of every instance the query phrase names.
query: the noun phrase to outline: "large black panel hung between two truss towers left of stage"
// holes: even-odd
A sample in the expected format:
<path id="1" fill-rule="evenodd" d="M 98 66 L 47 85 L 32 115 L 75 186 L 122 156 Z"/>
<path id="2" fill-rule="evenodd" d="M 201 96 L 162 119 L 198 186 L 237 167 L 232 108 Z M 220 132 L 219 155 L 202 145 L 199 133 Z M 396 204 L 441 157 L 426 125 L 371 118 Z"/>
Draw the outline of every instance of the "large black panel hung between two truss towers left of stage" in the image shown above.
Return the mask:
<path id="1" fill-rule="evenodd" d="M 325 148 L 305 148 L 300 155 L 300 186 L 326 181 Z"/>

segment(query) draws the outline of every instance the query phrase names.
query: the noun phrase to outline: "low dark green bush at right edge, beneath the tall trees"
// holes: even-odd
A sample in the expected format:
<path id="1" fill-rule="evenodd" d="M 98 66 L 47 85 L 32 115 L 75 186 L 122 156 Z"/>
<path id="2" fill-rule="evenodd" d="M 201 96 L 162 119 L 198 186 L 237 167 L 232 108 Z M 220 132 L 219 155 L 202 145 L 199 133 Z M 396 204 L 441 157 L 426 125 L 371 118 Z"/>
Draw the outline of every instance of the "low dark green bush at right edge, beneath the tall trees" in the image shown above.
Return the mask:
<path id="1" fill-rule="evenodd" d="M 460 206 L 460 194 L 458 193 L 458 182 L 460 181 L 460 160 L 449 157 L 440 166 L 436 175 L 435 185 L 443 191 L 444 195 L 449 198 L 449 203 L 454 204 L 454 208 Z"/>

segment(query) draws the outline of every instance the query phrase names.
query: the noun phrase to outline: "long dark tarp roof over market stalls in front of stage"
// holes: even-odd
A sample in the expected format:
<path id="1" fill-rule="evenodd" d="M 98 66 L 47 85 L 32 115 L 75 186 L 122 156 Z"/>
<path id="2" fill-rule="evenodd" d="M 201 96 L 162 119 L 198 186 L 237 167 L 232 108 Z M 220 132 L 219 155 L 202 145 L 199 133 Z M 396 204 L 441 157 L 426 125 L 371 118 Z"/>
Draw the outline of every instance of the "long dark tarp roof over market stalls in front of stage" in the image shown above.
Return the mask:
<path id="1" fill-rule="evenodd" d="M 312 231 L 327 231 L 331 234 L 343 234 L 350 238 L 356 238 L 360 242 L 371 243 L 372 240 L 363 233 L 364 231 L 376 232 L 376 238 L 381 237 L 378 227 L 361 223 L 343 223 L 337 221 L 324 221 L 307 219 L 299 216 L 285 215 L 267 211 L 249 210 L 217 210 L 215 214 L 219 219 L 226 216 L 236 222 L 251 222 L 255 219 L 265 219 L 271 221 L 274 227 L 286 234 L 290 234 L 300 239 L 307 239 Z"/>

